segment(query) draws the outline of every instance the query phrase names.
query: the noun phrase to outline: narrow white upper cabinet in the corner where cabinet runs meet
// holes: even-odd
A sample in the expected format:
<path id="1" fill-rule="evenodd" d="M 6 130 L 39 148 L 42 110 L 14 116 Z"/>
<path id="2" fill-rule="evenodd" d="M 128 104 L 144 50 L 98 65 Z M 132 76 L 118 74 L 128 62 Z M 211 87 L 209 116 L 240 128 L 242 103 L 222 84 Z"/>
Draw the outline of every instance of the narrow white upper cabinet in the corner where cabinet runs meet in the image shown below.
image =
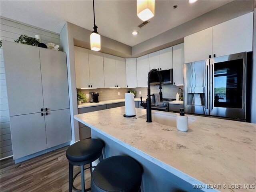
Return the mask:
<path id="1" fill-rule="evenodd" d="M 126 58 L 126 86 L 137 87 L 136 58 Z"/>

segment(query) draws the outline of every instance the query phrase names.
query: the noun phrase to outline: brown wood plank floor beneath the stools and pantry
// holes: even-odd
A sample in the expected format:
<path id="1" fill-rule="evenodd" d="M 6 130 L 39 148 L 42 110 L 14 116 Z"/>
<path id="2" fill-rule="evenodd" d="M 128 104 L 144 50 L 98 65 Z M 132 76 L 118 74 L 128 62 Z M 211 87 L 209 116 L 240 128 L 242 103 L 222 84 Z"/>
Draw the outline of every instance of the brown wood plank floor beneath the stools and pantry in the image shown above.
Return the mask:
<path id="1" fill-rule="evenodd" d="M 14 163 L 12 158 L 0 161 L 1 192 L 68 192 L 68 146 L 41 156 Z M 74 174 L 80 167 L 74 166 Z M 90 187 L 90 170 L 85 173 L 86 188 Z M 74 182 L 81 188 L 80 174 Z"/>

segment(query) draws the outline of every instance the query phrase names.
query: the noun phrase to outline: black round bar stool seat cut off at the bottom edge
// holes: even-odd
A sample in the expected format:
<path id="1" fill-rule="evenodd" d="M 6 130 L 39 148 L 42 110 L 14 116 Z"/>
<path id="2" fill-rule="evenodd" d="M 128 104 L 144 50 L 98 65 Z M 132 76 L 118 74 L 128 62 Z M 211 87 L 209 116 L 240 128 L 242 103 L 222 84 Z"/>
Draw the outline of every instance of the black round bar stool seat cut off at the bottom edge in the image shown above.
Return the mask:
<path id="1" fill-rule="evenodd" d="M 140 192 L 142 170 L 128 156 L 112 156 L 100 162 L 91 176 L 92 192 Z"/>

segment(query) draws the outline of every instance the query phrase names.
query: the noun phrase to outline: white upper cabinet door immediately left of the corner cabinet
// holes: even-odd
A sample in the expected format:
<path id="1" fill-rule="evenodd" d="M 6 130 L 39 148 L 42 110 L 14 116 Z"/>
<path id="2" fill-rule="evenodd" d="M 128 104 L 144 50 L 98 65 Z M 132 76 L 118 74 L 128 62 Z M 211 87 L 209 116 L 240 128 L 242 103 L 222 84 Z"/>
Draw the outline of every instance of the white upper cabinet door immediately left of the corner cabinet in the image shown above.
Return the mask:
<path id="1" fill-rule="evenodd" d="M 116 56 L 116 86 L 126 87 L 125 58 Z"/>

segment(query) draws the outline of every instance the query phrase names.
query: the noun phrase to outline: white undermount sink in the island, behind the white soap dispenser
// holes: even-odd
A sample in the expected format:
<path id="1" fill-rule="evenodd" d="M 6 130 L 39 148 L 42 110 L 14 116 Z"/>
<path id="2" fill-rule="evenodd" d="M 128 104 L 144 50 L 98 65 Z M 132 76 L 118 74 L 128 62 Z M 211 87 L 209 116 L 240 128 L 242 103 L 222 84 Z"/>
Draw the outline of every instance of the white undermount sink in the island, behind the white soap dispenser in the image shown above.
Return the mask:
<path id="1" fill-rule="evenodd" d="M 179 114 L 177 114 L 179 115 Z M 176 114 L 168 112 L 152 112 L 152 122 L 158 122 L 159 124 L 176 127 Z M 138 118 L 147 119 L 147 115 L 139 116 Z M 188 117 L 188 125 L 192 124 L 196 118 Z"/>

